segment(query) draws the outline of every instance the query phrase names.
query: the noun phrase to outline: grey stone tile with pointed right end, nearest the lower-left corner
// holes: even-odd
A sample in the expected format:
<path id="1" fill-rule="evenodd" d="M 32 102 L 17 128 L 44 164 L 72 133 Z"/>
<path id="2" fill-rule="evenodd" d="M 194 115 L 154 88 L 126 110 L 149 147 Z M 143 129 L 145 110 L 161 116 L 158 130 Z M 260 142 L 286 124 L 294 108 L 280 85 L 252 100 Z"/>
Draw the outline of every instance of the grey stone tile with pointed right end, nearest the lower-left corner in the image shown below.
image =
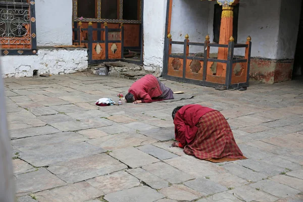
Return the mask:
<path id="1" fill-rule="evenodd" d="M 16 176 L 16 193 L 37 192 L 63 186 L 66 183 L 45 168 Z"/>

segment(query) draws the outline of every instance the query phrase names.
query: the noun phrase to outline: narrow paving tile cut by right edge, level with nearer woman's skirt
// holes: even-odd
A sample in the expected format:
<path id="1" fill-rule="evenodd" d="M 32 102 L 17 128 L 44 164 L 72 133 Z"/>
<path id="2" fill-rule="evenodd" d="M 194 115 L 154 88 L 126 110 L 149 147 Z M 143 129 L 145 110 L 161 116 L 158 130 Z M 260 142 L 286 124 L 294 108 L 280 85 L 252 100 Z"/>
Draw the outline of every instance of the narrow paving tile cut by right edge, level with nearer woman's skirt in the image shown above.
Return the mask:
<path id="1" fill-rule="evenodd" d="M 287 148 L 289 150 L 293 150 L 293 149 L 301 150 L 303 148 L 303 143 L 292 141 L 290 139 L 284 139 L 282 137 L 271 137 L 271 138 L 263 139 L 262 141 L 283 148 Z"/>

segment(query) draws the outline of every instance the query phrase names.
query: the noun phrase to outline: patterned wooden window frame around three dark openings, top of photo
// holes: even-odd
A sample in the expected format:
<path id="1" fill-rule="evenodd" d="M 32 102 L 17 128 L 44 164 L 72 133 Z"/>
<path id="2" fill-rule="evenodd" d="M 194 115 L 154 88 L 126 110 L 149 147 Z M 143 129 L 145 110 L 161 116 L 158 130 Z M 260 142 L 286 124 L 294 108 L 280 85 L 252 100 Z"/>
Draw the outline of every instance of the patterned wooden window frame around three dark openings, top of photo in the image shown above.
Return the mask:
<path id="1" fill-rule="evenodd" d="M 132 23 L 140 24 L 142 23 L 142 0 L 139 0 L 139 20 L 123 20 L 123 0 L 118 1 L 118 19 L 102 19 L 101 18 L 101 3 L 102 0 L 95 0 L 96 4 L 96 18 L 83 18 L 78 17 L 77 5 L 78 0 L 73 0 L 73 21 L 74 22 L 107 22 L 107 23 Z"/>

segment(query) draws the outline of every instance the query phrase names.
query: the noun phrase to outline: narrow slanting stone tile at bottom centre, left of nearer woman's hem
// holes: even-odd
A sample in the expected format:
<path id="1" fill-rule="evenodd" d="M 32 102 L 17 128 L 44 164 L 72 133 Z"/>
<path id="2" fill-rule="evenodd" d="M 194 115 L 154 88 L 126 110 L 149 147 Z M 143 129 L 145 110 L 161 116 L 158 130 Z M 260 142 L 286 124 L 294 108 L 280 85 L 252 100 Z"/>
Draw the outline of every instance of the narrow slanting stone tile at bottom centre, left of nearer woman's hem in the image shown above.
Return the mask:
<path id="1" fill-rule="evenodd" d="M 129 169 L 127 172 L 143 181 L 151 188 L 162 189 L 164 187 L 168 187 L 168 181 L 165 181 L 160 177 L 143 170 L 142 168 Z"/>

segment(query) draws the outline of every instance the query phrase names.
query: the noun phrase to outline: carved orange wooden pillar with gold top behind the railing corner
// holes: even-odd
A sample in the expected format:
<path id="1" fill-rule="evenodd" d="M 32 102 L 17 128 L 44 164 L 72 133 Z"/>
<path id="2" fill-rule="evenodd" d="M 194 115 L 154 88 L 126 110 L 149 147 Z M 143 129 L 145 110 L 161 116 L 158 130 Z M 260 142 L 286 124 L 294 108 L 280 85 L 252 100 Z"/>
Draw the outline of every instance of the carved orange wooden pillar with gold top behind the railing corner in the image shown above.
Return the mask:
<path id="1" fill-rule="evenodd" d="M 222 6 L 222 16 L 220 25 L 219 44 L 228 44 L 229 38 L 233 32 L 233 5 L 239 3 L 239 0 L 217 0 L 218 4 Z M 228 48 L 219 47 L 218 59 L 227 60 Z M 226 64 L 218 63 L 217 76 L 225 76 Z"/>

